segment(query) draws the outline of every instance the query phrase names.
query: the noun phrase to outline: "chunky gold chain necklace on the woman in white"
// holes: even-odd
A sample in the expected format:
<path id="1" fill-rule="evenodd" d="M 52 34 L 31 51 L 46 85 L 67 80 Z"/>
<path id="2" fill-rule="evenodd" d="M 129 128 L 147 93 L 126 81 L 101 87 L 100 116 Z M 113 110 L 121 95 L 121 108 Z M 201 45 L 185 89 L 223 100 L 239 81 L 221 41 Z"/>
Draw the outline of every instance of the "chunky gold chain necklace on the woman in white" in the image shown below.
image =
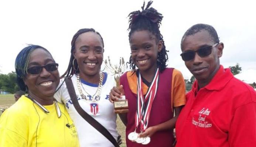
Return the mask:
<path id="1" fill-rule="evenodd" d="M 100 94 L 101 94 L 101 87 L 102 87 L 102 81 L 103 81 L 103 77 L 102 77 L 102 73 L 100 72 L 99 73 L 100 75 L 100 82 L 99 82 L 99 86 L 95 92 L 95 94 L 93 94 L 93 96 L 91 96 L 91 94 L 89 94 L 88 92 L 86 92 L 86 90 L 83 88 L 83 85 L 82 85 L 82 82 L 81 82 L 81 79 L 80 79 L 80 76 L 79 76 L 79 73 L 76 75 L 76 85 L 77 85 L 77 89 L 82 97 L 82 99 L 85 99 L 87 101 L 99 101 L 99 98 L 100 98 Z M 82 88 L 83 90 L 85 91 L 86 94 L 88 94 L 89 96 L 91 96 L 91 100 L 89 98 L 86 98 L 86 96 L 83 94 L 82 92 Z M 95 96 L 96 95 L 96 96 Z"/>

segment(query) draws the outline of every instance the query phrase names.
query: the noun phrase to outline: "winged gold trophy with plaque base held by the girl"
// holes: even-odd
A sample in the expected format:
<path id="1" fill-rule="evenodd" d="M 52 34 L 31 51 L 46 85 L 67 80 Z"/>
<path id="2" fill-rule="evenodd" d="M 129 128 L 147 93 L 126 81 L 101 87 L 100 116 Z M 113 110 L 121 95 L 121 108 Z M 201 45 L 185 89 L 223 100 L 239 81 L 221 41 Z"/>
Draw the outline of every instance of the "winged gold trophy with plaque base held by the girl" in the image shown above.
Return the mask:
<path id="1" fill-rule="evenodd" d="M 108 62 L 105 60 L 105 69 L 109 75 L 115 76 L 116 87 L 120 86 L 120 76 L 125 71 L 125 63 L 123 57 L 120 57 L 119 66 L 112 66 L 110 59 L 108 57 Z M 124 94 L 124 92 L 122 92 Z M 122 96 L 121 100 L 114 101 L 115 113 L 127 113 L 128 109 L 128 100 L 125 99 L 125 96 Z"/>

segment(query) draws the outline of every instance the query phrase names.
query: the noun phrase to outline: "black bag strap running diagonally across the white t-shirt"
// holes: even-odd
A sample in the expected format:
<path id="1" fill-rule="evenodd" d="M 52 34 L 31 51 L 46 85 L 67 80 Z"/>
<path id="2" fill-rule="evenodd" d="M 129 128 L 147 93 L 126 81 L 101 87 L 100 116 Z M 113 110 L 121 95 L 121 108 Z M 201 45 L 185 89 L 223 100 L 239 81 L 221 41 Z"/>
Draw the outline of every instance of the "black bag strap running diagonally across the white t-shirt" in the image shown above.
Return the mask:
<path id="1" fill-rule="evenodd" d="M 118 143 L 116 142 L 116 139 L 109 133 L 109 131 L 81 108 L 81 106 L 78 103 L 74 85 L 72 83 L 71 78 L 66 78 L 65 83 L 71 101 L 79 115 L 81 115 L 83 119 L 85 119 L 90 125 L 92 125 L 96 130 L 98 130 L 103 136 L 105 136 L 115 147 L 119 147 Z"/>

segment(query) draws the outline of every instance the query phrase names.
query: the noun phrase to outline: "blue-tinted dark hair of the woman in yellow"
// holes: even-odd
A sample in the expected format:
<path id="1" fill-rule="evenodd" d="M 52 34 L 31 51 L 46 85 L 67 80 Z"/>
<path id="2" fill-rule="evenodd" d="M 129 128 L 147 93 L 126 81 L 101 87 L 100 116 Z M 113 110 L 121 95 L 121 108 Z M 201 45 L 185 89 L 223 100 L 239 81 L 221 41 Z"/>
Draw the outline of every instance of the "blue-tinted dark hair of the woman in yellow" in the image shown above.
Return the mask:
<path id="1" fill-rule="evenodd" d="M 30 44 L 29 46 L 25 47 L 18 53 L 16 60 L 15 60 L 15 70 L 17 74 L 17 84 L 20 87 L 21 90 L 27 92 L 27 86 L 25 85 L 23 79 L 27 76 L 27 69 L 28 64 L 31 58 L 31 54 L 36 49 L 43 49 L 47 51 L 50 55 L 51 53 L 45 49 L 44 47 Z M 51 55 L 52 56 L 52 55 Z"/>

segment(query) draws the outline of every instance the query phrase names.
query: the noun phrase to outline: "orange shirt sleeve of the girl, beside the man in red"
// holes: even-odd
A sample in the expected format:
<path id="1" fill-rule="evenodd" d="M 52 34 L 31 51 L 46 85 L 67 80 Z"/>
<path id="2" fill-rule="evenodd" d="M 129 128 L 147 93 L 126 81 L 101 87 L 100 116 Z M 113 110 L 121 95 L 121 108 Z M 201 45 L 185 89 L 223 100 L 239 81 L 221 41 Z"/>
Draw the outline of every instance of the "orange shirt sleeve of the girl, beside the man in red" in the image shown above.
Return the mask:
<path id="1" fill-rule="evenodd" d="M 177 69 L 173 69 L 173 79 L 171 85 L 171 108 L 186 104 L 186 88 L 182 73 Z"/>

